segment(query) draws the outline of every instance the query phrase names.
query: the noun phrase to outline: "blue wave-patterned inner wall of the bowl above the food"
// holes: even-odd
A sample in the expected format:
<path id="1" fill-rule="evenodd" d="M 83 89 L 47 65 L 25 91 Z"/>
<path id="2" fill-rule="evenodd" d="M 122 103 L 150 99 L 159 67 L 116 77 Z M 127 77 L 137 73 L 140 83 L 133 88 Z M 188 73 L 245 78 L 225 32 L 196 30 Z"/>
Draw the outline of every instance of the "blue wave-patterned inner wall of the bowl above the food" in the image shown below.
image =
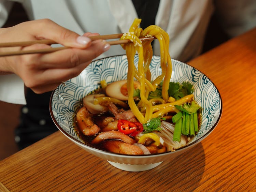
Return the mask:
<path id="1" fill-rule="evenodd" d="M 135 63 L 138 57 L 135 58 Z M 200 119 L 200 130 L 196 137 L 189 143 L 194 143 L 208 134 L 218 122 L 222 103 L 221 97 L 211 80 L 197 69 L 190 65 L 172 59 L 173 73 L 171 81 L 188 81 L 195 87 L 195 100 L 202 106 Z M 153 56 L 150 69 L 152 77 L 160 75 L 160 56 Z M 80 137 L 73 121 L 75 112 L 81 106 L 82 98 L 91 91 L 99 88 L 100 81 L 107 83 L 127 78 L 127 58 L 126 55 L 103 58 L 92 62 L 79 76 L 68 80 L 64 85 L 60 85 L 52 96 L 52 112 L 54 119 L 64 132 L 81 143 L 85 143 Z"/>

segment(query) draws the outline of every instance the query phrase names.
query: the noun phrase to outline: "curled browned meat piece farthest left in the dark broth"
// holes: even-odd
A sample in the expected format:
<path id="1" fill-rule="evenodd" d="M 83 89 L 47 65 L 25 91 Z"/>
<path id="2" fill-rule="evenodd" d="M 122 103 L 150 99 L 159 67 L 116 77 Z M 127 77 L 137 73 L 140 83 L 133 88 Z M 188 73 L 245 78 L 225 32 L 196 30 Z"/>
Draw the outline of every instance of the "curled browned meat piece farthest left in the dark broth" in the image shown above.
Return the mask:
<path id="1" fill-rule="evenodd" d="M 91 136 L 100 131 L 100 128 L 93 122 L 93 115 L 86 107 L 79 109 L 76 114 L 76 121 L 84 135 Z"/>

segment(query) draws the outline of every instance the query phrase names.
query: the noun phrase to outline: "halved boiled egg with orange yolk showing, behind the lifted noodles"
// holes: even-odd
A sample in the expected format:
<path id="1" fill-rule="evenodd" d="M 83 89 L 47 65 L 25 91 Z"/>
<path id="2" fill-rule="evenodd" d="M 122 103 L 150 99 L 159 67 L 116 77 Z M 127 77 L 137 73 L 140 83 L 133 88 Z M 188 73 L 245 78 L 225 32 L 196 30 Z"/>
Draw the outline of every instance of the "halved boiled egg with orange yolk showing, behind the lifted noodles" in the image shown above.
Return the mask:
<path id="1" fill-rule="evenodd" d="M 138 81 L 134 81 L 133 86 L 134 89 L 140 89 L 140 83 Z M 113 82 L 106 87 L 105 91 L 109 97 L 123 101 L 128 100 L 127 80 Z"/>

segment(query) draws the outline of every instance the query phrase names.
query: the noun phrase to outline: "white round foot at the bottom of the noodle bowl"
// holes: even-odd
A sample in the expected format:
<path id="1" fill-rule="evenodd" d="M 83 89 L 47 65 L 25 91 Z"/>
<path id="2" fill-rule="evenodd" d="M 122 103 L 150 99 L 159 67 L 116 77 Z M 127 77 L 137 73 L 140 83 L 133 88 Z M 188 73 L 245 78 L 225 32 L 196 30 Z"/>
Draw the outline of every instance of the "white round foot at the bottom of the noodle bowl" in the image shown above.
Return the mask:
<path id="1" fill-rule="evenodd" d="M 127 165 L 123 163 L 115 163 L 112 161 L 108 161 L 108 162 L 118 169 L 122 169 L 124 171 L 130 171 L 130 172 L 146 171 L 149 169 L 153 169 L 162 163 L 162 162 L 158 162 L 158 163 L 145 164 L 145 165 L 130 165 L 130 164 Z"/>

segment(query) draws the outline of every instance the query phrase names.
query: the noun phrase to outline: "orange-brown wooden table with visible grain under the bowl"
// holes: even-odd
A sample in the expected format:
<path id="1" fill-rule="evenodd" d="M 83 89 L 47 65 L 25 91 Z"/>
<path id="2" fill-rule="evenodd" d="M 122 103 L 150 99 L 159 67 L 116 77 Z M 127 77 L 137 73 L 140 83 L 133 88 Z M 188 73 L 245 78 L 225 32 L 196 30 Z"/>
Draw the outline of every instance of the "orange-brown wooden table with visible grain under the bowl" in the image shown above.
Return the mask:
<path id="1" fill-rule="evenodd" d="M 256 29 L 197 57 L 223 100 L 215 130 L 189 152 L 126 172 L 60 132 L 0 162 L 0 191 L 255 191 Z"/>

